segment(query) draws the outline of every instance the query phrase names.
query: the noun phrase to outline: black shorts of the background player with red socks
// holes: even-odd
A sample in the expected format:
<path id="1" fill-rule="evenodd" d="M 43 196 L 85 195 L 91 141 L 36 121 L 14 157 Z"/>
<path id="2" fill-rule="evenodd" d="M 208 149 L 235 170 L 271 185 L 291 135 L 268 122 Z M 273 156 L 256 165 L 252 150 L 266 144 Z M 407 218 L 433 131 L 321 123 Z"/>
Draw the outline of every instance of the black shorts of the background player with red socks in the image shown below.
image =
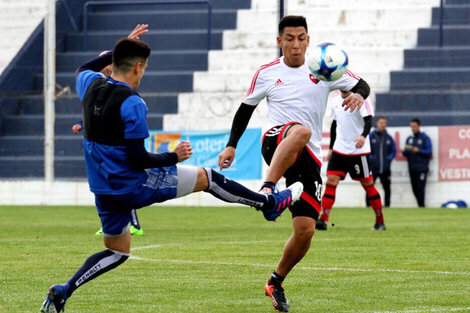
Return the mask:
<path id="1" fill-rule="evenodd" d="M 348 173 L 354 180 L 373 179 L 369 167 L 369 158 L 366 154 L 346 155 L 333 150 L 326 169 L 326 175 L 337 175 L 343 180 Z"/>

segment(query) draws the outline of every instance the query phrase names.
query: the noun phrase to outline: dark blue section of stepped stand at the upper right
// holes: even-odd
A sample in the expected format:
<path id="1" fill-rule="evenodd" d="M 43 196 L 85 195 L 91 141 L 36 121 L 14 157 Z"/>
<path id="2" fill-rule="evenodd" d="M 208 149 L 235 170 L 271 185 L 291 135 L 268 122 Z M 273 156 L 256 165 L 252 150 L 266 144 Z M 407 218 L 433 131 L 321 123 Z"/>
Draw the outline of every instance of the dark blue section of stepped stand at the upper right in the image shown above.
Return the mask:
<path id="1" fill-rule="evenodd" d="M 404 69 L 391 72 L 390 91 L 377 95 L 377 114 L 389 125 L 465 125 L 470 119 L 470 2 L 447 0 L 443 46 L 439 47 L 439 7 L 432 25 L 418 31 L 417 47 L 405 50 Z"/>

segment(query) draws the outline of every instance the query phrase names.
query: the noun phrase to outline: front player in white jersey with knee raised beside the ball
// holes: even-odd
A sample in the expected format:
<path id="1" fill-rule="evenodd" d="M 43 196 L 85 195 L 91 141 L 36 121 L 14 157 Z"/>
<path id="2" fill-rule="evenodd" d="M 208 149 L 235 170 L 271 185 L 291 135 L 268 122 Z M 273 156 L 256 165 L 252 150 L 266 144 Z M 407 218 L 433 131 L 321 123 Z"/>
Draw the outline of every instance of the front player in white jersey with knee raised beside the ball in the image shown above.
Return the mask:
<path id="1" fill-rule="evenodd" d="M 343 102 L 345 110 L 360 107 L 369 95 L 369 85 L 350 72 L 334 82 L 316 79 L 305 63 L 309 41 L 303 16 L 286 16 L 280 21 L 277 43 L 283 57 L 261 66 L 255 73 L 235 114 L 227 147 L 219 155 L 220 168 L 229 167 L 254 109 L 266 98 L 271 128 L 263 137 L 262 154 L 270 167 L 261 190 L 276 192 L 275 185 L 282 176 L 288 185 L 295 181 L 304 184 L 301 199 L 290 207 L 293 234 L 265 286 L 274 308 L 282 312 L 289 310 L 282 282 L 310 248 L 321 210 L 320 142 L 328 94 L 335 89 L 352 90 L 353 94 Z"/>

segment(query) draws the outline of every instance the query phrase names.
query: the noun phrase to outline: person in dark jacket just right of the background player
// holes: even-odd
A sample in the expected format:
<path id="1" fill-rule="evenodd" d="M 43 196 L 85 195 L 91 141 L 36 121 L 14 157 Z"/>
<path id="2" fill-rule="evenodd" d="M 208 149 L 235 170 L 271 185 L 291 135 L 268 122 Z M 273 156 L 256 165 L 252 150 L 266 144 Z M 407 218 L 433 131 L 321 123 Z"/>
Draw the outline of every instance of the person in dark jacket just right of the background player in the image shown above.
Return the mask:
<path id="1" fill-rule="evenodd" d="M 376 130 L 369 134 L 371 149 L 369 162 L 372 169 L 372 176 L 374 176 L 374 183 L 377 178 L 380 178 L 385 193 L 384 205 L 389 207 L 391 195 L 390 165 L 396 154 L 395 141 L 392 136 L 387 133 L 387 118 L 385 116 L 377 117 L 375 125 Z M 366 202 L 367 206 L 369 206 L 367 199 Z"/>

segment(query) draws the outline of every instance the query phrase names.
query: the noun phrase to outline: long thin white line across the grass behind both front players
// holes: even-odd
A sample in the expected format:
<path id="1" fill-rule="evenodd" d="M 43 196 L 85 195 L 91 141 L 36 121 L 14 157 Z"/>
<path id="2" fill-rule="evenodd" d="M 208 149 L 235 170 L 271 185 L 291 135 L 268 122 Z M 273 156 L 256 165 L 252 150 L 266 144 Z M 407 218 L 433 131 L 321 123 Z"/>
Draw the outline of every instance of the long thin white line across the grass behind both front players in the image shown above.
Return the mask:
<path id="1" fill-rule="evenodd" d="M 227 266 L 251 266 L 251 267 L 269 267 L 274 268 L 274 264 L 261 263 L 241 263 L 241 262 L 220 262 L 220 261 L 194 261 L 178 259 L 150 259 L 131 255 L 130 259 L 138 261 L 159 262 L 159 263 L 181 263 L 181 264 L 212 264 Z M 419 270 L 401 270 L 401 269 L 365 269 L 365 268 L 342 268 L 342 267 L 310 267 L 296 266 L 296 269 L 307 271 L 344 271 L 344 272 L 385 272 L 385 273 L 417 273 L 417 274 L 440 274 L 440 275 L 461 275 L 470 276 L 470 272 L 450 272 L 450 271 L 419 271 Z"/>

